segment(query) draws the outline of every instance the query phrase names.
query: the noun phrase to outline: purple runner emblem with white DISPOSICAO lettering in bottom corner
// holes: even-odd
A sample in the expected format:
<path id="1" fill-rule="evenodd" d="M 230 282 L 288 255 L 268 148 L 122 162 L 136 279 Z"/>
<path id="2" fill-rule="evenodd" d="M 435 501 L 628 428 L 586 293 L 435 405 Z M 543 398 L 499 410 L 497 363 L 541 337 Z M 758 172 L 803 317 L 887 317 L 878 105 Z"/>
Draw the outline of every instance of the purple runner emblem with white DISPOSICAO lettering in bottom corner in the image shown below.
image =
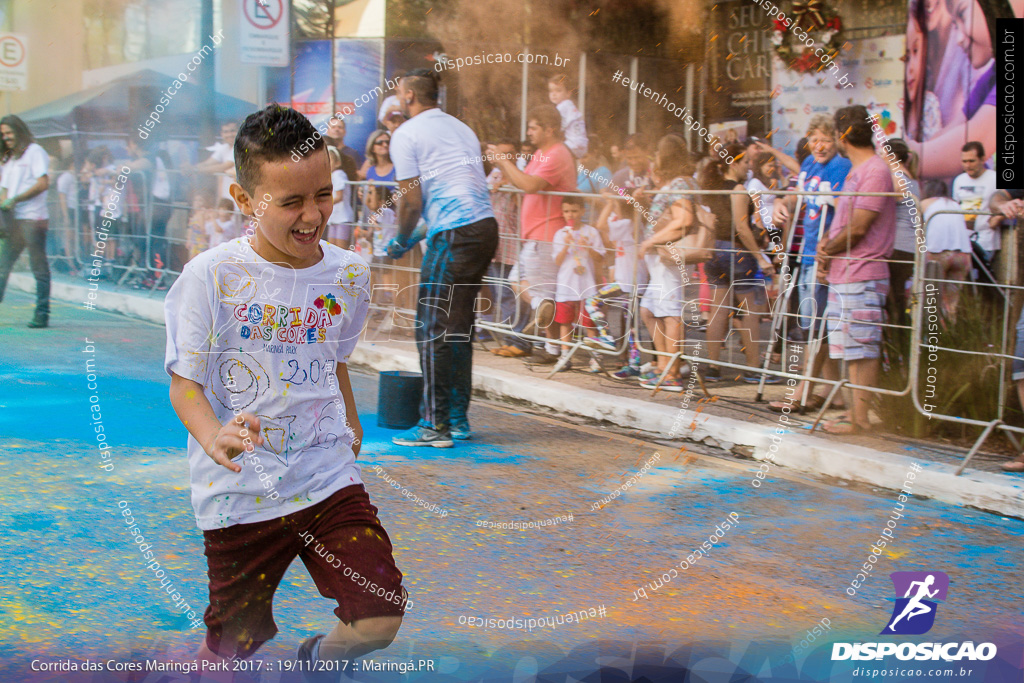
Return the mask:
<path id="1" fill-rule="evenodd" d="M 942 571 L 894 571 L 893 611 L 879 635 L 920 636 L 935 624 L 938 602 L 946 599 L 949 577 Z M 833 643 L 833 660 L 897 659 L 987 661 L 995 656 L 994 643 Z"/>

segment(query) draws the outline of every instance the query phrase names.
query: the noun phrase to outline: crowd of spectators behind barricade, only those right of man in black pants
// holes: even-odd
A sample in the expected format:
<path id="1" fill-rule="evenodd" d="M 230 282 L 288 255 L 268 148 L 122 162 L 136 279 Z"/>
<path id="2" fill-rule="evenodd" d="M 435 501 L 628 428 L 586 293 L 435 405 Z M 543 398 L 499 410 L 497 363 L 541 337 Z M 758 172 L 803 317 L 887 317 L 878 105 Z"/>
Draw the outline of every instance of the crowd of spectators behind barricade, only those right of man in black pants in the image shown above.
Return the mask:
<path id="1" fill-rule="evenodd" d="M 939 180 L 925 183 L 923 191 L 910 146 L 877 134 L 859 105 L 813 117 L 796 158 L 751 138 L 728 148 L 736 160 L 729 165 L 717 157 L 696 158 L 675 134 L 655 141 L 630 136 L 614 145 L 614 155 L 591 136 L 587 152 L 575 158 L 564 142 L 565 122 L 556 115 L 544 108 L 529 113 L 527 131 L 536 152 L 522 168 L 509 159 L 514 140 L 487 148 L 504 248 L 492 263 L 494 284 L 482 319 L 515 327 L 506 334 L 483 331 L 480 337 L 500 342 L 493 353 L 532 366 L 571 369 L 566 353 L 587 357 L 575 355 L 572 346 L 580 341 L 621 351 L 622 367 L 608 371 L 611 377 L 682 391 L 693 368 L 672 354 L 684 348 L 692 330 L 703 333 L 699 336 L 712 361 L 699 364 L 705 381 L 774 383 L 777 377 L 758 369 L 766 367 L 766 354 L 777 351 L 763 343 L 772 338 L 768 311 L 785 308 L 788 340 L 818 349 L 809 364 L 812 377 L 836 381 L 845 373 L 852 385 L 878 386 L 884 331 L 909 326 L 915 253 L 926 252 L 930 278 L 946 281 L 940 284 L 940 300 L 945 321 L 952 324 L 961 283 L 997 279 L 1000 225 L 1024 208 L 1021 197 L 995 193 L 992 171 L 982 163 L 985 151 L 976 141 L 964 146 L 964 172 L 952 193 Z M 574 182 L 569 160 L 575 163 Z M 521 202 L 503 185 L 524 193 Z M 591 196 L 582 212 L 572 202 L 538 194 L 568 193 L 573 186 Z M 783 189 L 798 194 L 775 194 Z M 809 194 L 840 191 L 891 196 Z M 978 214 L 965 215 L 968 211 Z M 709 224 L 705 215 L 713 225 L 711 244 L 701 236 Z M 574 268 L 586 274 L 574 274 L 565 267 L 563 255 L 573 250 L 566 250 L 564 238 L 590 233 L 591 227 L 601 244 L 578 239 L 574 247 L 583 255 L 573 257 Z M 666 254 L 672 244 L 678 247 L 675 258 Z M 571 297 L 570 282 L 579 288 Z M 793 291 L 785 296 L 788 283 Z M 688 300 L 687 286 L 699 292 L 695 301 Z M 657 354 L 643 352 L 633 339 L 626 311 L 637 287 L 644 345 Z M 567 306 L 569 298 L 580 306 Z M 692 325 L 684 306 L 699 310 Z M 578 338 L 566 325 L 578 328 Z M 716 365 L 733 331 L 746 368 L 742 372 Z M 777 353 L 771 359 L 777 364 Z M 605 372 L 605 365 L 592 359 L 584 369 Z M 1024 370 L 1020 375 L 1024 378 Z M 798 387 L 795 405 L 777 401 L 772 408 L 820 408 L 829 386 L 808 383 L 806 391 Z M 826 431 L 852 434 L 871 428 L 872 393 L 848 393 L 834 400 L 846 412 L 827 422 Z"/>

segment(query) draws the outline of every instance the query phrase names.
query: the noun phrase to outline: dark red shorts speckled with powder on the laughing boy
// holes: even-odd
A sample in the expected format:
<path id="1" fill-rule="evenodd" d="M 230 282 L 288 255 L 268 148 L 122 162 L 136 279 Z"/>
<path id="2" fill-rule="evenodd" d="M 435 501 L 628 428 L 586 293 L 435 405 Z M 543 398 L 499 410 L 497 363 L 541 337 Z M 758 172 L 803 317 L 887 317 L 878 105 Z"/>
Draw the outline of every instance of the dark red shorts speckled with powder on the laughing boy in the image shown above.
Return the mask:
<path id="1" fill-rule="evenodd" d="M 400 616 L 409 594 L 362 484 L 284 517 L 203 531 L 210 575 L 207 646 L 248 657 L 278 633 L 272 600 L 296 557 L 344 624 Z M 410 603 L 412 604 L 412 603 Z"/>

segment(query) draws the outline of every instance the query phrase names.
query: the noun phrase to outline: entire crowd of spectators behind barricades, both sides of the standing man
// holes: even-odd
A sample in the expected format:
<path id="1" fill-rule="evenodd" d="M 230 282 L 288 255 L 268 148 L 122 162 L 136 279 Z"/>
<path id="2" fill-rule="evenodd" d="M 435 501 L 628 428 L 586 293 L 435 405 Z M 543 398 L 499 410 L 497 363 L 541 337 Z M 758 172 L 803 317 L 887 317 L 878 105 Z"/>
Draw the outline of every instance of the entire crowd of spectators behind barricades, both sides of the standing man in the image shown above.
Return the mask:
<path id="1" fill-rule="evenodd" d="M 501 240 L 481 302 L 480 319 L 490 325 L 478 335 L 499 342 L 492 349 L 498 355 L 570 370 L 565 356 L 577 353 L 579 341 L 606 352 L 574 356 L 590 358 L 586 371 L 682 391 L 696 372 L 673 355 L 686 348 L 687 334 L 691 343 L 707 342 L 705 381 L 773 383 L 779 378 L 760 369 L 779 367 L 778 345 L 764 340 L 782 332 L 792 343 L 818 349 L 810 354 L 810 376 L 838 380 L 845 372 L 851 384 L 876 386 L 883 329 L 909 325 L 919 248 L 927 252 L 930 276 L 942 281 L 947 322 L 956 318 L 962 283 L 996 283 L 1008 270 L 1001 231 L 1021 214 L 1024 195 L 995 189 L 981 142 L 963 146 L 963 172 L 951 185 L 922 185 L 914 145 L 877 135 L 863 106 L 814 116 L 794 157 L 752 137 L 730 142 L 726 158 L 701 158 L 677 133 L 635 134 L 608 145 L 588 135 L 571 93 L 567 77 L 551 77 L 550 103 L 529 111 L 527 139 L 499 138 L 481 150 Z M 392 99 L 382 102 L 379 128 L 362 152 L 345 143 L 344 121 L 332 120 L 325 134 L 335 191 L 326 239 L 362 252 L 376 281 L 392 286 L 377 303 L 412 309 L 419 250 L 398 260 L 384 250 L 396 224 L 390 138 L 404 121 Z M 51 160 L 59 171 L 60 222 L 72 225 L 73 214 L 80 216 L 80 231 L 65 230 L 58 240 L 63 267 L 85 271 L 75 242 L 88 244 L 104 212 L 117 229 L 102 270 L 111 278 L 118 269 L 134 272 L 128 282 L 139 287 L 166 287 L 166 271 L 239 237 L 243 221 L 226 191 L 237 130 L 225 122 L 220 140 L 194 166 L 175 168 L 166 151 L 134 139 L 118 158 L 106 147 L 91 150 L 78 168 Z M 131 171 L 130 181 L 115 190 L 122 169 Z M 384 184 L 352 184 L 364 180 Z M 907 199 L 831 195 L 843 190 Z M 168 237 L 175 206 L 188 207 L 183 240 Z M 634 338 L 630 319 L 635 293 L 642 339 Z M 784 325 L 770 318 L 769 311 L 779 310 Z M 733 336 L 741 361 L 723 357 Z M 614 367 L 608 358 L 617 360 Z M 1014 379 L 1024 396 L 1020 366 Z M 820 407 L 826 389 L 800 387 L 795 410 Z M 871 394 L 854 390 L 834 404 L 847 399 L 849 412 L 824 428 L 869 429 Z"/>

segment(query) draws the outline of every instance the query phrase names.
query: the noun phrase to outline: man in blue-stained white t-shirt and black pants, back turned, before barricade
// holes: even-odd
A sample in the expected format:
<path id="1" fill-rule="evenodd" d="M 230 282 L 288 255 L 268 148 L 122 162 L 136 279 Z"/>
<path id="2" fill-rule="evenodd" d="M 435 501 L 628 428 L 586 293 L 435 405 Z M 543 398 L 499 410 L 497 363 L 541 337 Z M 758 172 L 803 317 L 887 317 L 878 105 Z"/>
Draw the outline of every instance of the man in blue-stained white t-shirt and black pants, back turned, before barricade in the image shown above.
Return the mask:
<path id="1" fill-rule="evenodd" d="M 498 249 L 480 140 L 437 108 L 438 89 L 432 69 L 403 76 L 398 101 L 409 120 L 391 135 L 400 199 L 398 234 L 388 245 L 388 256 L 399 258 L 413 248 L 421 215 L 429 225 L 416 307 L 421 420 L 391 439 L 398 445 L 450 447 L 453 438 L 470 437 L 473 304 Z"/>

